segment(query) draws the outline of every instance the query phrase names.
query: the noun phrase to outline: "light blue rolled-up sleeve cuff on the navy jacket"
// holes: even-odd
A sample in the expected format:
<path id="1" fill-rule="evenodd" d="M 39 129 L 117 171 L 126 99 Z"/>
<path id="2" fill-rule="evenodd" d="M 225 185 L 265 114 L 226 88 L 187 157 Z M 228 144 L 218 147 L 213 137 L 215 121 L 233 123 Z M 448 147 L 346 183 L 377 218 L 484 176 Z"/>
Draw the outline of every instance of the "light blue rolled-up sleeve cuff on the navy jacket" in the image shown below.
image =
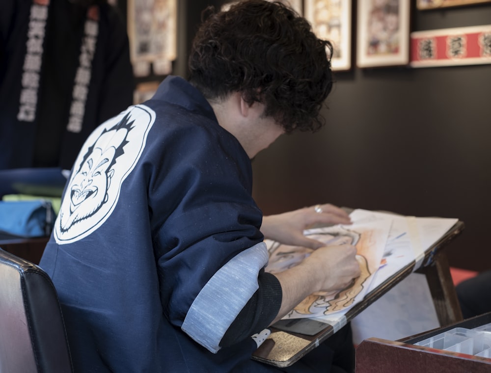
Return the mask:
<path id="1" fill-rule="evenodd" d="M 192 302 L 182 330 L 201 346 L 218 352 L 230 324 L 257 291 L 258 274 L 268 258 L 266 244 L 260 242 L 222 266 Z"/>

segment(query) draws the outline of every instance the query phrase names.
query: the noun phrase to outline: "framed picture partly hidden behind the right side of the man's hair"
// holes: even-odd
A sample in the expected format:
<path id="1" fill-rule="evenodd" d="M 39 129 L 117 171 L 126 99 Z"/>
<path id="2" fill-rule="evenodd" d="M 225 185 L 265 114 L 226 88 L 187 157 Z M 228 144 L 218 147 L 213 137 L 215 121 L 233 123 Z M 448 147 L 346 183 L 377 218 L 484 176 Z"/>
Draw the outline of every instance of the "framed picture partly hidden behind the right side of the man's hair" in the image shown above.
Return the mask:
<path id="1" fill-rule="evenodd" d="M 351 0 L 305 0 L 304 16 L 317 37 L 333 46 L 332 70 L 351 69 Z"/>

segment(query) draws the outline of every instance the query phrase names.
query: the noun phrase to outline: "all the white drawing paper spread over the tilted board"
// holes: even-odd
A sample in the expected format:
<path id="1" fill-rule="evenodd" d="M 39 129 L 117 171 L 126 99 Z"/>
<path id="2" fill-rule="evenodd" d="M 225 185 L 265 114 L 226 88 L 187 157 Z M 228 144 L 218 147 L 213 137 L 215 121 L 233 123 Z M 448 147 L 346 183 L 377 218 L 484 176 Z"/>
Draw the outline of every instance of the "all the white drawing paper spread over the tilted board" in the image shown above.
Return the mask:
<path id="1" fill-rule="evenodd" d="M 313 318 L 342 327 L 345 314 L 366 293 L 413 263 L 417 269 L 425 251 L 457 221 L 454 218 L 414 217 L 357 209 L 350 214 L 352 225 L 307 230 L 305 235 L 326 245 L 355 244 L 363 275 L 349 288 L 335 293 L 314 293 L 283 319 Z M 270 262 L 266 270 L 275 273 L 296 266 L 311 249 L 266 240 Z"/>

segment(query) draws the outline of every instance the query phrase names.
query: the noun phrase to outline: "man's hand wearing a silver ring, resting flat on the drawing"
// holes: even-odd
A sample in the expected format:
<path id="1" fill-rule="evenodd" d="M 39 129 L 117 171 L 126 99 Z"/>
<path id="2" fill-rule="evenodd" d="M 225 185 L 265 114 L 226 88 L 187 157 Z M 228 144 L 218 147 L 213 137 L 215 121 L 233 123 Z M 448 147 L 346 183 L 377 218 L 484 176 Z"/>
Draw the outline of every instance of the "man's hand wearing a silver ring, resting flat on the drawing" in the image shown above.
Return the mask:
<path id="1" fill-rule="evenodd" d="M 317 211 L 316 211 L 317 210 Z M 350 216 L 331 204 L 305 207 L 303 209 L 263 217 L 261 232 L 264 237 L 285 245 L 317 249 L 324 243 L 303 235 L 305 229 L 314 225 L 351 224 Z"/>

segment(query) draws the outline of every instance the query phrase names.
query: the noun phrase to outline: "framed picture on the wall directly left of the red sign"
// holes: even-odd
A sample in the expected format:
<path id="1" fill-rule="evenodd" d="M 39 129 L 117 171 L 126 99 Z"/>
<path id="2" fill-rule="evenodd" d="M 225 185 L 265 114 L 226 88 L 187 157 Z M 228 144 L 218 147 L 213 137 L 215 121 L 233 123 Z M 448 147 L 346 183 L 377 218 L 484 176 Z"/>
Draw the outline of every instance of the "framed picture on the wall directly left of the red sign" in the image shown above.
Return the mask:
<path id="1" fill-rule="evenodd" d="M 356 65 L 409 63 L 410 0 L 357 0 Z"/>

